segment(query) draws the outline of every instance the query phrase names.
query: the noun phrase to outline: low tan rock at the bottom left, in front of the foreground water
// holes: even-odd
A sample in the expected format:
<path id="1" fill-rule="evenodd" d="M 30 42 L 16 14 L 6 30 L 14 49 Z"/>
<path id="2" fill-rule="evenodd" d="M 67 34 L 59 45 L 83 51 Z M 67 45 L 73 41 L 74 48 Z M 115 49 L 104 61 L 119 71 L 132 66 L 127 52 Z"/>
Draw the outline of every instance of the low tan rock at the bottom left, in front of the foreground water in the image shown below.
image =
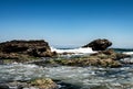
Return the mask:
<path id="1" fill-rule="evenodd" d="M 0 89 L 59 89 L 50 78 L 37 78 L 28 81 L 11 81 L 0 84 Z"/>

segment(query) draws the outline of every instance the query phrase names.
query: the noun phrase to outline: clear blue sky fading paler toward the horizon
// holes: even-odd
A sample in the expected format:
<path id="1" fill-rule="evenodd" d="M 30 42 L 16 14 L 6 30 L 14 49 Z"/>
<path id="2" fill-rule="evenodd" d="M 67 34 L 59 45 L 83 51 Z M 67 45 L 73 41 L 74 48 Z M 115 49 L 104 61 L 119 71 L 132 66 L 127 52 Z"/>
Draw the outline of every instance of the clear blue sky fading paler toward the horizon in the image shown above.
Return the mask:
<path id="1" fill-rule="evenodd" d="M 133 48 L 133 0 L 0 0 L 0 42 L 82 46 L 108 38 Z"/>

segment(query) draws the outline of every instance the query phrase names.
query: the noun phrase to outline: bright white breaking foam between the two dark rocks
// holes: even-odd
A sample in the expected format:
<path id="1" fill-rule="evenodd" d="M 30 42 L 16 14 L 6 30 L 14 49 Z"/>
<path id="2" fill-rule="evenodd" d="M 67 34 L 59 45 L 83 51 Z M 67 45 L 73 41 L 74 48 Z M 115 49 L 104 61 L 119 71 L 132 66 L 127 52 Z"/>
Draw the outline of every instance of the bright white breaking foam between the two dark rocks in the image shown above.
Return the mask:
<path id="1" fill-rule="evenodd" d="M 79 47 L 79 48 L 73 48 L 73 49 L 58 49 L 54 47 L 51 47 L 52 52 L 57 52 L 57 53 L 74 53 L 74 54 L 93 54 L 96 53 L 94 51 L 92 51 L 91 47 Z"/>

